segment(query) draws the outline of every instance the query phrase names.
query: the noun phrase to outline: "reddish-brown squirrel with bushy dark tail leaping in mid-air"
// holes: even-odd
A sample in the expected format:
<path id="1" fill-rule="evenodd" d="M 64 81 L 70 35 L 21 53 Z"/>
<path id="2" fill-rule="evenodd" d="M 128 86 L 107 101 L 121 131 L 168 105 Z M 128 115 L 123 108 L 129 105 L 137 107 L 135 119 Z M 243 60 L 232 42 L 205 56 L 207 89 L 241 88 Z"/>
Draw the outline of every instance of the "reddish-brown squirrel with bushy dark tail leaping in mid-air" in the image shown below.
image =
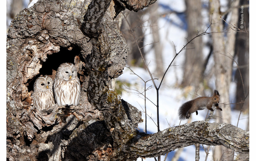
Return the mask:
<path id="1" fill-rule="evenodd" d="M 180 120 L 184 120 L 185 118 L 189 118 L 190 114 L 193 112 L 196 112 L 196 115 L 198 114 L 197 110 L 203 110 L 205 107 L 208 110 L 213 111 L 212 106 L 214 105 L 216 109 L 222 111 L 222 109 L 219 107 L 219 92 L 217 90 L 214 90 L 214 94 L 212 97 L 198 97 L 194 100 L 187 101 L 184 104 L 182 104 L 179 108 L 179 118 Z"/>

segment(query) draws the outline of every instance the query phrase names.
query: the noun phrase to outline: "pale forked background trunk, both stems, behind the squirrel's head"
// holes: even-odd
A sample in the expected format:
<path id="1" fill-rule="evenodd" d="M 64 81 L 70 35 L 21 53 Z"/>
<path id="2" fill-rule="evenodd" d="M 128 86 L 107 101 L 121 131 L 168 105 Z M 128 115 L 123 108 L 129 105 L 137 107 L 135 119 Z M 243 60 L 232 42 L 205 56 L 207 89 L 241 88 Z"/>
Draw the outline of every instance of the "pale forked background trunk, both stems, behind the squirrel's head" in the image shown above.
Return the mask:
<path id="1" fill-rule="evenodd" d="M 233 3 L 233 6 L 238 5 L 238 1 Z M 219 0 L 212 0 L 209 3 L 209 11 L 210 11 L 210 19 L 212 17 L 212 23 L 217 23 L 212 27 L 212 32 L 222 32 L 224 30 L 223 27 L 223 20 L 220 18 L 220 3 Z M 232 7 L 232 6 L 231 6 Z M 237 24 L 237 17 L 238 17 L 238 9 L 233 8 L 230 12 L 231 14 L 231 23 Z M 227 41 L 224 40 L 224 33 L 215 33 L 212 34 L 212 41 L 213 41 L 213 54 L 214 54 L 214 61 L 215 61 L 215 84 L 216 89 L 219 91 L 220 96 L 220 103 L 223 111 L 215 111 L 217 113 L 217 122 L 231 122 L 231 108 L 229 104 L 229 86 L 231 83 L 232 77 L 232 64 L 233 61 L 230 59 L 230 55 L 234 56 L 234 44 L 235 44 L 235 34 L 236 32 L 229 29 L 230 33 L 227 33 Z M 224 55 L 223 55 L 224 54 Z M 226 57 L 225 55 L 229 56 Z M 223 154 L 224 152 L 224 154 Z M 223 155 L 222 155 L 223 154 Z M 222 159 L 232 159 L 230 157 L 230 150 L 223 148 L 222 146 L 216 146 L 214 150 L 214 159 L 215 160 L 222 160 Z"/>

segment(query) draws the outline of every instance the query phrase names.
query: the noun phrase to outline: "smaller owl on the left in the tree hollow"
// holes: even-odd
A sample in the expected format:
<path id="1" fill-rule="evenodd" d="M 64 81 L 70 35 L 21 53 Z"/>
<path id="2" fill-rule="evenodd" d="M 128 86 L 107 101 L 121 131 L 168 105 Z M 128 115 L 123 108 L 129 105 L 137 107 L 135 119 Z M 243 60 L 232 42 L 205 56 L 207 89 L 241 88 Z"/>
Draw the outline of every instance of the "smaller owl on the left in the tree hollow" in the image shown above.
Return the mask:
<path id="1" fill-rule="evenodd" d="M 48 110 L 55 104 L 52 85 L 52 78 L 47 75 L 36 79 L 34 83 L 34 93 L 31 97 L 33 98 L 34 106 L 38 110 Z"/>

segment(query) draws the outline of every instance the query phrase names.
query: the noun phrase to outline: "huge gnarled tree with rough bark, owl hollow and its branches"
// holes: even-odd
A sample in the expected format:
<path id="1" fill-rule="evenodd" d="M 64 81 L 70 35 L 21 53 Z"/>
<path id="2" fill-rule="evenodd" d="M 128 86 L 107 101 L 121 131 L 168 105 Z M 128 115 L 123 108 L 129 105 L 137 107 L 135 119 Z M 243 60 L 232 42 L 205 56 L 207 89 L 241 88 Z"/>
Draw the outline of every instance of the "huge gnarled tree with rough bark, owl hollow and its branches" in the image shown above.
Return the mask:
<path id="1" fill-rule="evenodd" d="M 141 113 L 108 89 L 109 80 L 122 74 L 128 52 L 114 17 L 154 2 L 39 0 L 16 15 L 6 50 L 8 160 L 136 160 L 195 143 L 249 153 L 249 132 L 225 123 L 138 132 Z M 30 97 L 35 79 L 54 77 L 63 62 L 78 70 L 80 104 L 38 111 Z"/>

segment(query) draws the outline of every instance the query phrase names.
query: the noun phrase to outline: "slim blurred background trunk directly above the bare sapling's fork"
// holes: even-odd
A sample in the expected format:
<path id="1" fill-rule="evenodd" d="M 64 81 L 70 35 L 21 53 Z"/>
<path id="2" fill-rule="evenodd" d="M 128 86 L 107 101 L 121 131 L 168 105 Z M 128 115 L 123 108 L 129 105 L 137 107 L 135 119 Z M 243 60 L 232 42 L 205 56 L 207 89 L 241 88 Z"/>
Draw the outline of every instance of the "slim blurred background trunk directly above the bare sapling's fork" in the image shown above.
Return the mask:
<path id="1" fill-rule="evenodd" d="M 158 27 L 158 19 L 159 19 L 159 13 L 158 13 L 158 1 L 151 6 L 151 8 L 148 8 L 150 11 L 150 21 L 151 21 L 151 29 L 152 29 L 152 35 L 153 35 L 153 41 L 155 42 L 153 44 L 154 51 L 155 51 L 155 63 L 156 63 L 156 69 L 155 74 L 158 78 L 161 78 L 164 75 L 164 67 L 163 67 L 163 57 L 162 57 L 162 44 L 160 42 L 160 35 L 159 35 L 159 27 Z M 145 45 L 145 44 L 144 44 Z"/>

